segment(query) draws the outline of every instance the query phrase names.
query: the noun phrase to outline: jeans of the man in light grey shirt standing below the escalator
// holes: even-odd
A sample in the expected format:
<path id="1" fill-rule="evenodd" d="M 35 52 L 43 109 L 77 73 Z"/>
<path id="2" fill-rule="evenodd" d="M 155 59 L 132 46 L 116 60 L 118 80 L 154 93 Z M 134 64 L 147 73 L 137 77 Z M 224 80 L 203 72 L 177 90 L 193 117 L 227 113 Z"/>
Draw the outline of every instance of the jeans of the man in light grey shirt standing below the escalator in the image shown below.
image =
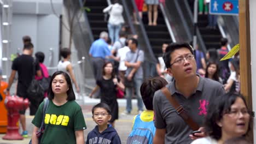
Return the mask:
<path id="1" fill-rule="evenodd" d="M 137 98 L 137 105 L 138 105 L 138 111 L 143 111 L 143 102 L 141 98 L 141 91 L 139 90 L 141 88 L 143 79 L 133 79 L 133 83 L 135 86 L 136 91 L 136 98 Z M 131 103 L 131 97 L 132 97 L 132 89 L 130 87 L 125 88 L 126 92 L 126 111 L 131 112 L 132 110 L 132 103 Z"/>

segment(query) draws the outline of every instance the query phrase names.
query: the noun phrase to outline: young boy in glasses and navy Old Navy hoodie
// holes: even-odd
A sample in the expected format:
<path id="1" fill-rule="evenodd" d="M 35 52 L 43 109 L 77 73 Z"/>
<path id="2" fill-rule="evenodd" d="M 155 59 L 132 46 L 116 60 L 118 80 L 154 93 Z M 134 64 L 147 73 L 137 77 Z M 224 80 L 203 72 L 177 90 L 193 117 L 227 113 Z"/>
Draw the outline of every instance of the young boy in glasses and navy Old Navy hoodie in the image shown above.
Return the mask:
<path id="1" fill-rule="evenodd" d="M 108 124 L 111 119 L 110 108 L 107 104 L 99 103 L 92 107 L 92 119 L 97 124 L 87 135 L 86 144 L 92 143 L 121 143 L 117 131 Z"/>

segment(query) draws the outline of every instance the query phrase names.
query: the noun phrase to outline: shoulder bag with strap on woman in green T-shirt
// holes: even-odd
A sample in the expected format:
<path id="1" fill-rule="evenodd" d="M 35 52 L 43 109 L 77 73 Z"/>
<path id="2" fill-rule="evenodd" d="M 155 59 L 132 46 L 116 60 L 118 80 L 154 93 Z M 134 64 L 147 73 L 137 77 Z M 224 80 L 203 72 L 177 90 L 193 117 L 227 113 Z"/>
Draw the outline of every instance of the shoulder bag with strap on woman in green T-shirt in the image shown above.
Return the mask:
<path id="1" fill-rule="evenodd" d="M 43 133 L 44 133 L 44 117 L 45 117 L 45 113 L 46 113 L 46 110 L 48 108 L 48 105 L 49 105 L 49 99 L 46 99 L 44 101 L 43 118 L 42 118 L 41 126 L 36 131 L 36 135 L 37 135 L 37 139 L 38 139 L 39 144 L 40 144 L 40 141 L 41 141 Z M 32 144 L 32 139 L 30 140 L 30 142 L 28 144 Z"/>

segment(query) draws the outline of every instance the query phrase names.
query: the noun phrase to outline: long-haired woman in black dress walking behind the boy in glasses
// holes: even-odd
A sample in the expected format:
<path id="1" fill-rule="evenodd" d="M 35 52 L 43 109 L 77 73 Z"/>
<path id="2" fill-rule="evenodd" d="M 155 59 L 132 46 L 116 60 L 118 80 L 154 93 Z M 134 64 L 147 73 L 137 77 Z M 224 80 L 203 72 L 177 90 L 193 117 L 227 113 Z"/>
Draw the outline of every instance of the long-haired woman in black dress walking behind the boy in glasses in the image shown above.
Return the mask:
<path id="1" fill-rule="evenodd" d="M 98 88 L 101 88 L 101 103 L 107 104 L 111 109 L 112 118 L 110 124 L 114 127 L 115 119 L 118 119 L 117 88 L 124 91 L 124 84 L 115 76 L 113 64 L 106 62 L 103 65 L 102 77 L 96 80 L 97 86 L 92 90 L 89 97 L 92 97 Z"/>

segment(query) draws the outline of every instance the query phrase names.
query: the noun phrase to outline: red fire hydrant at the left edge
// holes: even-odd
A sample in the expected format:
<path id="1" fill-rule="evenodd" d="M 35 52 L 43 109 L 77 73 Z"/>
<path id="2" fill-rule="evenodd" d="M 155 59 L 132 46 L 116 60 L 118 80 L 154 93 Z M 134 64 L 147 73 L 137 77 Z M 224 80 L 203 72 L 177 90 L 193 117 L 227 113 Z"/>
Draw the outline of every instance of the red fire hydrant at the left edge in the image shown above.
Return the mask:
<path id="1" fill-rule="evenodd" d="M 3 136 L 4 140 L 23 140 L 19 134 L 17 125 L 20 118 L 20 110 L 27 109 L 30 102 L 28 99 L 23 99 L 18 96 L 7 96 L 4 100 L 4 105 L 8 111 L 7 133 Z"/>

